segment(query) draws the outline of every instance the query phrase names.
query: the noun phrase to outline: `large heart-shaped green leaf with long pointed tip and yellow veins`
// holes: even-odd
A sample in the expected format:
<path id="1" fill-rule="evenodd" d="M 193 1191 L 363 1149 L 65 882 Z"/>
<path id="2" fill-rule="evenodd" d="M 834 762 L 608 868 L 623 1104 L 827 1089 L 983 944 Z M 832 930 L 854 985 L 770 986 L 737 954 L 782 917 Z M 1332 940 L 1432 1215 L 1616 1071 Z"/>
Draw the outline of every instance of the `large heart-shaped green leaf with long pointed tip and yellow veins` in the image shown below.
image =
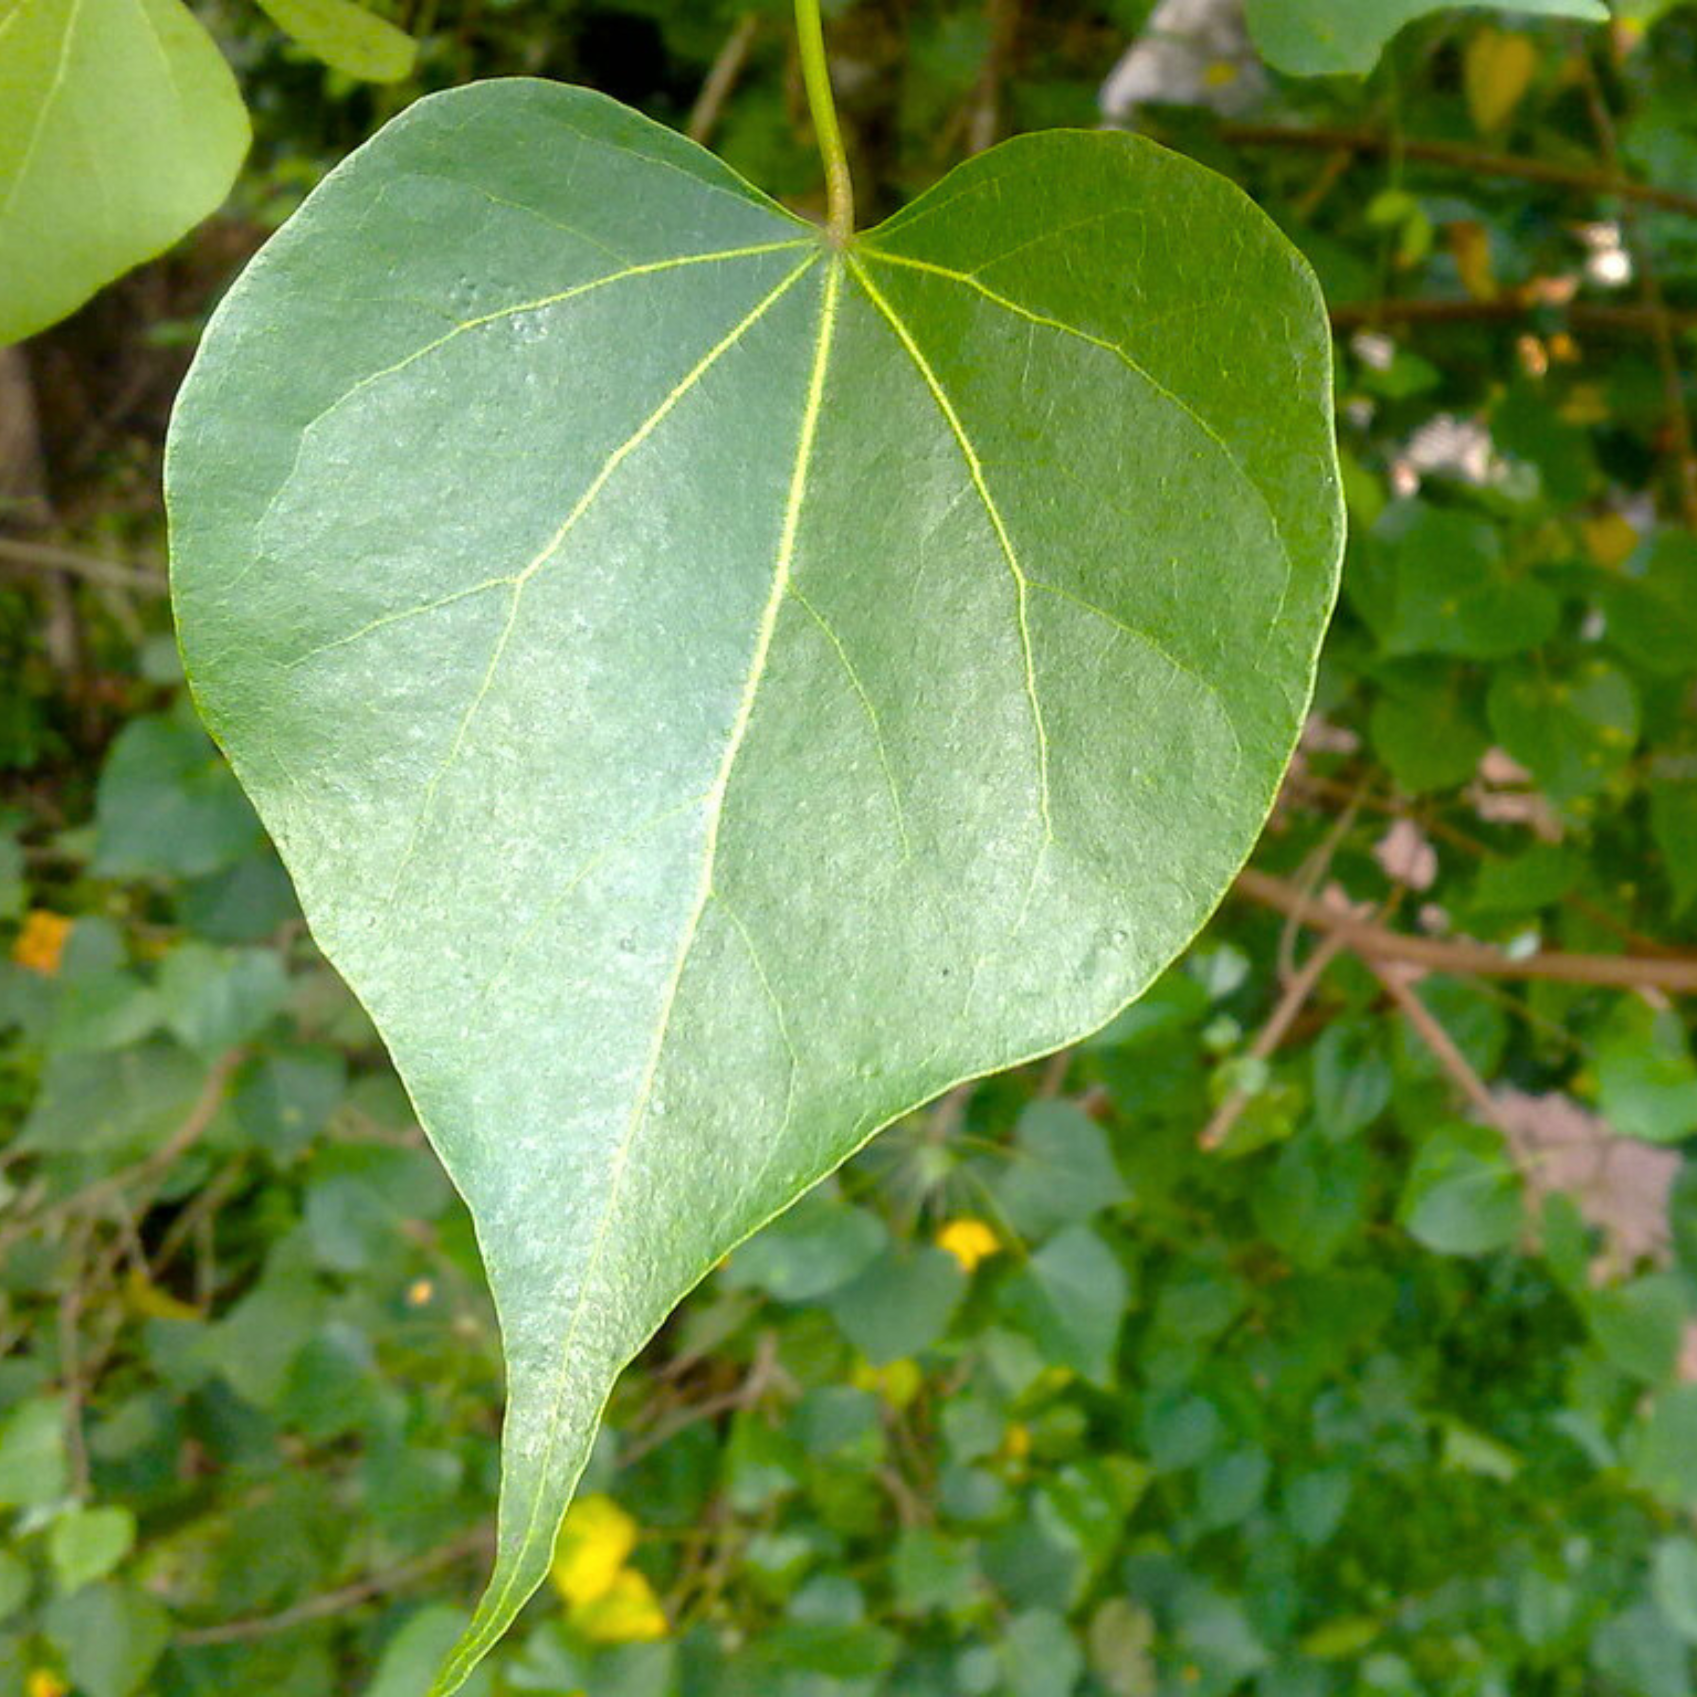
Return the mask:
<path id="1" fill-rule="evenodd" d="M 451 1690 L 677 1298 L 1220 899 L 1336 589 L 1327 326 L 1137 137 L 1008 143 L 840 251 L 599 95 L 485 83 L 253 263 L 168 494 L 197 699 L 501 1308 Z"/>

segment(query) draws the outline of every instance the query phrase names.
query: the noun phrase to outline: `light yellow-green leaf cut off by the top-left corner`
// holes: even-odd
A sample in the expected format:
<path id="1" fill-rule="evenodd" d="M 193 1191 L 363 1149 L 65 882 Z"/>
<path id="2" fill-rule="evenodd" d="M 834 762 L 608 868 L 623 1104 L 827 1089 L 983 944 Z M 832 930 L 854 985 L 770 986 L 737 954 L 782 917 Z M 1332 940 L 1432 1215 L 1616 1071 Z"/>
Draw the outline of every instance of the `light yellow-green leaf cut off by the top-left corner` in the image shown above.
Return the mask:
<path id="1" fill-rule="evenodd" d="M 0 343 L 229 193 L 248 112 L 182 0 L 0 0 Z"/>

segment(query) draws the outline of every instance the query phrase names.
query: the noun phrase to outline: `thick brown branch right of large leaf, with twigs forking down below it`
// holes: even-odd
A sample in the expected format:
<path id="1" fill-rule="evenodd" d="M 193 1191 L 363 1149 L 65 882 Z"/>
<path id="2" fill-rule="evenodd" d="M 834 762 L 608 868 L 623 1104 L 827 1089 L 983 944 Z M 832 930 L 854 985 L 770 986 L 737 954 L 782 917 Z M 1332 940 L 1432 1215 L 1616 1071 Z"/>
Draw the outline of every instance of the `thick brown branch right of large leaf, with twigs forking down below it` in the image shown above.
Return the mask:
<path id="1" fill-rule="evenodd" d="M 1539 950 L 1515 961 L 1488 944 L 1409 937 L 1405 932 L 1386 930 L 1310 899 L 1285 879 L 1257 872 L 1254 867 L 1239 872 L 1232 888 L 1257 906 L 1271 908 L 1313 930 L 1341 935 L 1344 945 L 1368 964 L 1400 961 L 1429 972 L 1544 979 L 1558 984 L 1595 984 L 1600 989 L 1661 989 L 1675 996 L 1697 996 L 1697 959 L 1690 955 L 1648 959 L 1626 954 L 1582 955 Z"/>

